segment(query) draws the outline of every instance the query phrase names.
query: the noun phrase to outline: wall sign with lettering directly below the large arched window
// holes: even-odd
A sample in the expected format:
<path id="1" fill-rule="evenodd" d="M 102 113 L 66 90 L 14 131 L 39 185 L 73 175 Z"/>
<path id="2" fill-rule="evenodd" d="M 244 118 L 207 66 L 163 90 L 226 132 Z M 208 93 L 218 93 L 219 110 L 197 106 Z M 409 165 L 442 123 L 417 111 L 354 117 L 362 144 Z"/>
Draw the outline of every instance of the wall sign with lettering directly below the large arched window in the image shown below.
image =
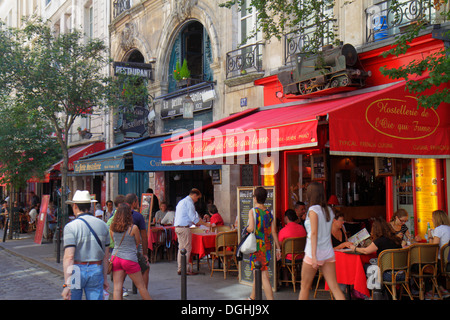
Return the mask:
<path id="1" fill-rule="evenodd" d="M 194 102 L 194 113 L 213 107 L 215 94 L 212 86 L 189 91 L 183 90 L 177 95 L 171 95 L 161 100 L 161 118 L 181 116 L 183 114 L 183 99 L 186 95 L 189 95 Z"/>

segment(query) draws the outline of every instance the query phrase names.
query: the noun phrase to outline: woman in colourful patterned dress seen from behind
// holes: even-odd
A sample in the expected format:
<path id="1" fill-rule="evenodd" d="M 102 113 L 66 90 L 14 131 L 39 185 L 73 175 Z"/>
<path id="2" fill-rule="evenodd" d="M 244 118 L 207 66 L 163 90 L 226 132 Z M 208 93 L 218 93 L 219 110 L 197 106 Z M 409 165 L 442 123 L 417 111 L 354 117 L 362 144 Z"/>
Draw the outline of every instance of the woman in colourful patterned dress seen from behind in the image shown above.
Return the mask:
<path id="1" fill-rule="evenodd" d="M 251 270 L 255 270 L 256 261 L 261 262 L 261 280 L 264 294 L 267 300 L 273 300 L 268 265 L 272 257 L 273 243 L 276 246 L 277 260 L 281 258 L 281 248 L 277 236 L 276 219 L 264 206 L 266 199 L 267 190 L 263 187 L 257 187 L 253 195 L 253 208 L 248 213 L 247 232 L 255 232 L 256 236 L 256 252 L 250 254 Z M 254 276 L 250 300 L 255 300 L 256 297 L 255 279 L 256 277 Z"/>

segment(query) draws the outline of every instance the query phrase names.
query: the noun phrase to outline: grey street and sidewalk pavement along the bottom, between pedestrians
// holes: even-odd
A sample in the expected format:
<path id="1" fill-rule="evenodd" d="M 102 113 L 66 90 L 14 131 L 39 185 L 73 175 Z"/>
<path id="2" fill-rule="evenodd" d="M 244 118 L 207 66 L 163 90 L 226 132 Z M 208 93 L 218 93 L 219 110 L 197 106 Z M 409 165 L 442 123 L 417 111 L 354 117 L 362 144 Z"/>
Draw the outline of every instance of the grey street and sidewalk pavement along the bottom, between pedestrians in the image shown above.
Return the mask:
<path id="1" fill-rule="evenodd" d="M 3 239 L 3 230 L 0 230 Z M 60 262 L 56 260 L 56 245 L 43 240 L 34 242 L 34 232 L 20 234 L 18 239 L 0 240 L 0 299 L 26 300 L 31 291 L 42 294 L 33 299 L 59 300 L 63 284 L 63 250 Z M 19 262 L 14 262 L 19 261 Z M 110 277 L 108 276 L 110 281 Z M 140 300 L 139 293 L 132 293 L 132 282 L 126 278 L 124 287 L 128 291 L 125 300 Z M 177 275 L 176 261 L 157 261 L 150 264 L 149 293 L 154 300 L 180 300 L 181 277 Z M 110 281 L 110 293 L 113 285 Z M 207 264 L 200 264 L 198 275 L 187 277 L 188 300 L 246 300 L 251 287 L 239 283 L 237 273 L 230 272 L 227 279 L 222 272 L 210 276 Z M 263 294 L 264 296 L 264 294 Z M 297 292 L 292 286 L 281 287 L 274 293 L 275 300 L 296 300 Z M 112 298 L 112 294 L 111 294 Z M 312 296 L 311 296 L 312 298 Z M 330 300 L 328 292 L 319 292 L 316 300 Z"/>

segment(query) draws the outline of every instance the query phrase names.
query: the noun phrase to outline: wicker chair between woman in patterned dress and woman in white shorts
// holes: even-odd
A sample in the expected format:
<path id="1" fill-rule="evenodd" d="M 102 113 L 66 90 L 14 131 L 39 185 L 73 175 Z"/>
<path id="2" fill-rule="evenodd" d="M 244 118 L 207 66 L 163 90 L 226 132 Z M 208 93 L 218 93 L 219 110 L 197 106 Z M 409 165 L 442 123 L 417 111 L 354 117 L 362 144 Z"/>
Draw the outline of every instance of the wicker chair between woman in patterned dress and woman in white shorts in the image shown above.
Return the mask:
<path id="1" fill-rule="evenodd" d="M 280 282 L 291 282 L 295 292 L 295 283 L 300 283 L 297 280 L 298 269 L 303 263 L 303 256 L 305 254 L 306 237 L 287 238 L 281 244 L 281 267 L 289 271 L 291 275 L 290 280 L 282 279 Z M 286 256 L 291 254 L 291 259 Z"/>

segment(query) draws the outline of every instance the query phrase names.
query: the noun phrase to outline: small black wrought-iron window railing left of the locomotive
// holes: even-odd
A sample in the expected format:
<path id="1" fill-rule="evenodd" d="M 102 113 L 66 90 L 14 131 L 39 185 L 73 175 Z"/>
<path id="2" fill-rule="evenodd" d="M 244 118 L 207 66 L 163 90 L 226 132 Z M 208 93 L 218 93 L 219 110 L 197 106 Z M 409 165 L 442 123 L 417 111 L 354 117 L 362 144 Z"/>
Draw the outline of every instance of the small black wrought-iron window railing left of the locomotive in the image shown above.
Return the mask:
<path id="1" fill-rule="evenodd" d="M 262 43 L 241 47 L 227 53 L 227 79 L 262 71 Z"/>

